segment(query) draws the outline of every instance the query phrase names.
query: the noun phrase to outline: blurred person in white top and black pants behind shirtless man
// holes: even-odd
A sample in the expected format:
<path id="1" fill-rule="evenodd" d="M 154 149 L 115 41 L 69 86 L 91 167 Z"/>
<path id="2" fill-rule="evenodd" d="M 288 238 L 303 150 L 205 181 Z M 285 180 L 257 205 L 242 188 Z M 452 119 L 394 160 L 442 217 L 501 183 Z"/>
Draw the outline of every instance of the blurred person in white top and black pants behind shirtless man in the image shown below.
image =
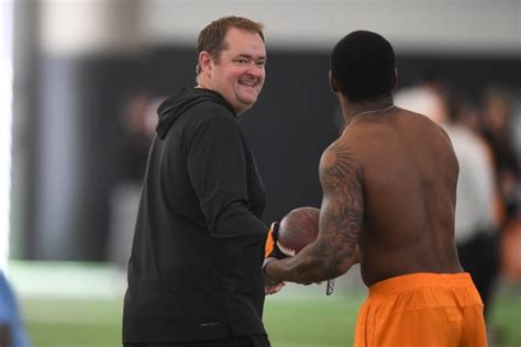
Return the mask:
<path id="1" fill-rule="evenodd" d="M 475 131 L 475 108 L 451 94 L 447 120 L 442 126 L 451 138 L 459 164 L 455 215 L 457 253 L 463 268 L 473 277 L 487 317 L 501 258 L 496 176 L 491 150 Z"/>

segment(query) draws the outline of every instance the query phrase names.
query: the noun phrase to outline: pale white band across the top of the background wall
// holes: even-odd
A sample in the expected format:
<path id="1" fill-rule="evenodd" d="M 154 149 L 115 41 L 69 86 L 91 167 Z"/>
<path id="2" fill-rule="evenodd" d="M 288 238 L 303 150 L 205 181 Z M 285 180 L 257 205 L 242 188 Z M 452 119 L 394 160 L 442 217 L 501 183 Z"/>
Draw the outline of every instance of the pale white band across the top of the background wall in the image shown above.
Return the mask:
<path id="1" fill-rule="evenodd" d="M 520 0 L 41 0 L 42 42 L 64 53 L 121 45 L 188 44 L 210 21 L 245 15 L 268 46 L 330 49 L 366 29 L 397 49 L 521 55 Z M 114 18 L 118 20 L 114 21 Z"/>

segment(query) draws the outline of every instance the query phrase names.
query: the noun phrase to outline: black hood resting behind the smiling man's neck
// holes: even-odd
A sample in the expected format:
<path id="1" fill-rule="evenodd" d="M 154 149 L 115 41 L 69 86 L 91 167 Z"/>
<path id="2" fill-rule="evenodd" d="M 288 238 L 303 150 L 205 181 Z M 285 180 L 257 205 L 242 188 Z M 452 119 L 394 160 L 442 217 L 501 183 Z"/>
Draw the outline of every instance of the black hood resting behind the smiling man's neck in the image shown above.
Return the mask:
<path id="1" fill-rule="evenodd" d="M 217 91 L 203 88 L 182 88 L 176 97 L 165 100 L 157 109 L 159 122 L 156 133 L 159 138 L 165 138 L 171 125 L 191 107 L 200 102 L 214 102 L 223 105 L 235 114 L 232 105 Z"/>

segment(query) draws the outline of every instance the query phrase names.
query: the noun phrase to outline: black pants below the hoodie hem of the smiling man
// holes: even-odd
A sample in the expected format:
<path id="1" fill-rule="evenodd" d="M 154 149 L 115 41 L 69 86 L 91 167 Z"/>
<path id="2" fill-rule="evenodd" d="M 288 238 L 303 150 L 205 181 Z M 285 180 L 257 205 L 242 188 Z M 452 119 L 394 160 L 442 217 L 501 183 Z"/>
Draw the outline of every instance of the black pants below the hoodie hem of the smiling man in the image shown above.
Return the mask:
<path id="1" fill-rule="evenodd" d="M 123 347 L 270 347 L 264 335 L 250 335 L 219 340 L 124 344 Z"/>

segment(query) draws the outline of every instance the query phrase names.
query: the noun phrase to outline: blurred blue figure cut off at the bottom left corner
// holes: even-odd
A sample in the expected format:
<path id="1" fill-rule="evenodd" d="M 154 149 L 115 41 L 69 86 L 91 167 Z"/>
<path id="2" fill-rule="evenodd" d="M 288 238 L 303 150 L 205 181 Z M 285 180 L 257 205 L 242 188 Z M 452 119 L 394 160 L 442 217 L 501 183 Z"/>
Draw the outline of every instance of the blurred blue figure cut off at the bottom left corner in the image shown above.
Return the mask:
<path id="1" fill-rule="evenodd" d="M 1 347 L 29 347 L 22 318 L 19 313 L 16 298 L 0 269 L 0 346 Z"/>

